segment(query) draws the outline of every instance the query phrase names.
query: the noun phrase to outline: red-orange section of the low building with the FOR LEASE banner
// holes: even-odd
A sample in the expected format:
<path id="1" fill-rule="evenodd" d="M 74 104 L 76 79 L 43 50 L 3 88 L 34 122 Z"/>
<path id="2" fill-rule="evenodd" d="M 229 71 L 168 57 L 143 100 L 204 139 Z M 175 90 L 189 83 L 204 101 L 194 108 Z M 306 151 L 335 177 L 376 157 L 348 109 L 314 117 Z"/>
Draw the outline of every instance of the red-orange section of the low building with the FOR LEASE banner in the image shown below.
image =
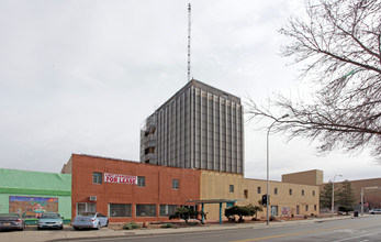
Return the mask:
<path id="1" fill-rule="evenodd" d="M 98 211 L 110 222 L 168 220 L 178 206 L 200 199 L 197 169 L 72 154 L 61 173 L 71 174 L 72 218 Z"/>

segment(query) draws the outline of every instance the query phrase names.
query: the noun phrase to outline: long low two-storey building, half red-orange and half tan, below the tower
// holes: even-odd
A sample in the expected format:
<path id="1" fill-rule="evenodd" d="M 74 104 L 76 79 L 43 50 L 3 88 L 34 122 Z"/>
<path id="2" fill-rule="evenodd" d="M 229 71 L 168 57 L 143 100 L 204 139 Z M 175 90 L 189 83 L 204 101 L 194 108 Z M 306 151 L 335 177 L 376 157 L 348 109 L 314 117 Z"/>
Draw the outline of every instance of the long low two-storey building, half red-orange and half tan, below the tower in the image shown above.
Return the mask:
<path id="1" fill-rule="evenodd" d="M 259 206 L 266 180 L 243 174 L 189 169 L 124 160 L 72 154 L 63 173 L 70 173 L 71 216 L 99 211 L 110 222 L 167 221 L 177 207 L 201 209 L 208 220 L 220 219 L 226 206 Z M 215 204 L 213 204 L 215 201 Z M 317 215 L 318 186 L 270 182 L 271 215 Z M 266 211 L 258 213 L 265 218 Z M 222 219 L 226 220 L 225 217 Z"/>

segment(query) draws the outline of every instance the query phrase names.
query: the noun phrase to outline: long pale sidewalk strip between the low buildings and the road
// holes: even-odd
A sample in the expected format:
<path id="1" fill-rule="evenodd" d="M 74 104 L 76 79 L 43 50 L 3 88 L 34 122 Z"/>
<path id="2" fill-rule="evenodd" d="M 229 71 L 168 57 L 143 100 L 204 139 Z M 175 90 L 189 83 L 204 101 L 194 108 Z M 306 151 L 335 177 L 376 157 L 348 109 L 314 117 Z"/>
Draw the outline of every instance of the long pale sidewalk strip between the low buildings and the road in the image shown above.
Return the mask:
<path id="1" fill-rule="evenodd" d="M 333 218 L 314 218 L 295 221 L 276 221 L 270 222 L 270 227 L 281 227 L 287 224 L 325 222 L 340 219 L 351 219 L 351 216 L 341 216 Z M 361 218 L 361 217 L 359 217 Z M 102 239 L 102 238 L 123 238 L 136 235 L 173 234 L 173 233 L 194 233 L 202 231 L 235 230 L 235 229 L 260 229 L 266 228 L 264 223 L 223 223 L 208 227 L 188 227 L 178 229 L 137 229 L 137 230 L 111 230 L 102 228 L 100 230 L 75 231 L 70 226 L 64 230 L 36 230 L 35 227 L 27 227 L 24 231 L 0 232 L 1 242 L 41 242 L 41 241 L 69 241 L 77 239 Z"/>

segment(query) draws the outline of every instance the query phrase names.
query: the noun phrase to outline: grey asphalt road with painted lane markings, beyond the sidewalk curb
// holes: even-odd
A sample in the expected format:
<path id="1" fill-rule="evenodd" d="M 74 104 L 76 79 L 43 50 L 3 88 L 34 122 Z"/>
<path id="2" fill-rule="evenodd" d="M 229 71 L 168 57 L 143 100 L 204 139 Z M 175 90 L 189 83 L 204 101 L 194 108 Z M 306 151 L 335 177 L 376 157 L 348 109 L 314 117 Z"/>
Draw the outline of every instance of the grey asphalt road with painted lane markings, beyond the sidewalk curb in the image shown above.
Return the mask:
<path id="1" fill-rule="evenodd" d="M 287 226 L 272 226 L 261 228 L 246 228 L 222 231 L 200 231 L 180 234 L 157 234 L 131 238 L 114 238 L 100 241 L 134 241 L 134 242 L 358 242 L 381 240 L 381 216 L 368 218 L 352 218 L 347 220 L 333 220 L 313 223 L 289 223 Z M 81 240 L 83 241 L 83 240 Z M 93 241 L 93 240 L 89 240 Z"/>

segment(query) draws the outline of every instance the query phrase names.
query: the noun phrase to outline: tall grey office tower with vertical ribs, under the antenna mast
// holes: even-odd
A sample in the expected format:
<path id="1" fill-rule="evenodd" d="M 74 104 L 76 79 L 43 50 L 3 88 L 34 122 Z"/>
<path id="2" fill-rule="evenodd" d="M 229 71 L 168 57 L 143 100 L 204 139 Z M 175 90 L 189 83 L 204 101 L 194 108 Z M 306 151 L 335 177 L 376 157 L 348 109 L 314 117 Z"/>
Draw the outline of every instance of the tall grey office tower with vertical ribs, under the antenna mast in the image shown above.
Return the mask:
<path id="1" fill-rule="evenodd" d="M 192 79 L 145 121 L 141 162 L 243 174 L 240 99 Z"/>

